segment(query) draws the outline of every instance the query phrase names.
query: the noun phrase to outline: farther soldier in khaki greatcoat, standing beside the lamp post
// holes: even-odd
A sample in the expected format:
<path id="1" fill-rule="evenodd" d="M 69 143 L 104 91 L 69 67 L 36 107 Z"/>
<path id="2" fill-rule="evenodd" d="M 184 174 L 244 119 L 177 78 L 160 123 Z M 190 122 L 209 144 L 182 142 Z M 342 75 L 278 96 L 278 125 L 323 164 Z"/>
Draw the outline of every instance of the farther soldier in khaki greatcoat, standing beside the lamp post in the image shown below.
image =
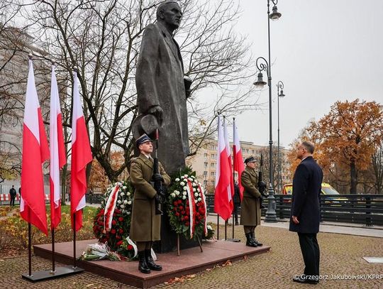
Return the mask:
<path id="1" fill-rule="evenodd" d="M 243 199 L 241 202 L 240 224 L 243 225 L 246 236 L 246 246 L 256 247 L 262 244 L 255 239 L 255 227 L 260 225 L 260 191 L 257 189 L 258 176 L 255 171 L 255 158 L 245 159 L 246 168 L 240 175 L 240 182 L 243 190 Z"/>

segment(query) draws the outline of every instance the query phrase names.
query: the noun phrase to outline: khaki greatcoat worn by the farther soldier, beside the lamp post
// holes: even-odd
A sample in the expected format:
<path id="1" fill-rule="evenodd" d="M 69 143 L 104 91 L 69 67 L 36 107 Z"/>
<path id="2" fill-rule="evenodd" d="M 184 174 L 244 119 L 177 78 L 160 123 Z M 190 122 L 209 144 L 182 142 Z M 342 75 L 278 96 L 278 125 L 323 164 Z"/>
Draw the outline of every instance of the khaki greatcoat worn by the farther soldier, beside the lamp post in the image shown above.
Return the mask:
<path id="1" fill-rule="evenodd" d="M 258 175 L 255 170 L 246 166 L 240 175 L 240 182 L 244 187 L 240 204 L 240 224 L 243 226 L 260 225 L 260 191 L 257 189 Z"/>

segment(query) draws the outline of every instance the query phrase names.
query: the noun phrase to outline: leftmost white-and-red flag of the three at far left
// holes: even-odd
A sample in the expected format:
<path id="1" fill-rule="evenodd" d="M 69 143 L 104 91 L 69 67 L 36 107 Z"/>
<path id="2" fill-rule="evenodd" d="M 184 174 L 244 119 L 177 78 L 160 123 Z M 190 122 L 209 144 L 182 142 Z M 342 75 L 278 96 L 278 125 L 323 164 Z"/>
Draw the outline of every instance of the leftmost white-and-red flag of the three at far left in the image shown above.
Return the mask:
<path id="1" fill-rule="evenodd" d="M 21 217 L 48 236 L 43 170 L 41 165 L 49 158 L 49 148 L 35 87 L 32 60 L 29 60 L 22 158 Z"/>

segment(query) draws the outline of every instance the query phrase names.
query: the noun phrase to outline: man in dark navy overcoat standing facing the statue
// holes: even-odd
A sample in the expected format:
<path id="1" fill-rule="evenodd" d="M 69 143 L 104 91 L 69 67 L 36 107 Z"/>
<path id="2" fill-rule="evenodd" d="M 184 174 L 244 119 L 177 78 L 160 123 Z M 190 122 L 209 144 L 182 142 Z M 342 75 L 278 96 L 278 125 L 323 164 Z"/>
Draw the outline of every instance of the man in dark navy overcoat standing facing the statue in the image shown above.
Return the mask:
<path id="1" fill-rule="evenodd" d="M 304 274 L 295 276 L 293 280 L 316 284 L 319 280 L 320 258 L 316 234 L 319 231 L 319 195 L 323 172 L 313 159 L 313 151 L 314 145 L 310 141 L 302 142 L 296 151 L 296 157 L 301 163 L 296 168 L 293 179 L 290 231 L 298 233 L 305 265 Z"/>

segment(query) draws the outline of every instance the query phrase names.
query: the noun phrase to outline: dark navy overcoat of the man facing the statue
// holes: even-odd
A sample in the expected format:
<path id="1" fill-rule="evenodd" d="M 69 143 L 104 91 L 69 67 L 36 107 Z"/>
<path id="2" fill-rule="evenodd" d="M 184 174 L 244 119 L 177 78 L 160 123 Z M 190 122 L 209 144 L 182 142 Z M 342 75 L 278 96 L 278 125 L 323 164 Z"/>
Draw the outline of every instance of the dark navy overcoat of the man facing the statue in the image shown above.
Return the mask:
<path id="1" fill-rule="evenodd" d="M 292 216 L 298 217 L 299 224 L 290 218 L 290 231 L 314 234 L 319 231 L 321 220 L 319 196 L 323 172 L 312 156 L 301 161 L 295 170 L 292 192 Z"/>

